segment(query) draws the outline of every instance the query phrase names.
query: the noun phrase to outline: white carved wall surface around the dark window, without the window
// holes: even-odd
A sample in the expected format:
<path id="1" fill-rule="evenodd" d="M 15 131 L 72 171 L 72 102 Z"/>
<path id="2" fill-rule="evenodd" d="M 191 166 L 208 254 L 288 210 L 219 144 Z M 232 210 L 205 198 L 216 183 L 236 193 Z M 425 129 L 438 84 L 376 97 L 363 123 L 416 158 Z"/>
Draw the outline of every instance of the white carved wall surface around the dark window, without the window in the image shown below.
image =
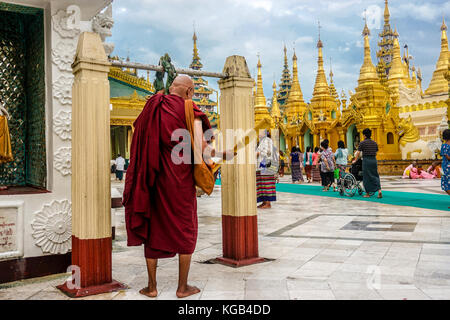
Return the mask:
<path id="1" fill-rule="evenodd" d="M 46 157 L 49 193 L 0 196 L 0 217 L 3 214 L 6 218 L 12 219 L 12 212 L 15 209 L 11 209 L 11 206 L 21 207 L 19 214 L 23 215 L 15 221 L 12 250 L 9 255 L 8 252 L 0 252 L 0 263 L 14 258 L 64 254 L 70 251 L 73 82 L 71 64 L 79 35 L 83 31 L 92 31 L 90 20 L 80 20 L 86 15 L 83 6 L 89 6 L 89 12 L 98 13 L 111 1 L 6 2 L 44 9 Z M 73 3 L 78 7 L 72 7 L 73 11 L 68 14 L 66 8 Z M 93 7 L 97 9 L 94 10 Z M 68 17 L 69 24 L 65 20 Z M 91 19 L 92 15 L 88 18 Z M 21 242 L 23 250 L 17 254 L 15 249 L 22 247 Z"/>

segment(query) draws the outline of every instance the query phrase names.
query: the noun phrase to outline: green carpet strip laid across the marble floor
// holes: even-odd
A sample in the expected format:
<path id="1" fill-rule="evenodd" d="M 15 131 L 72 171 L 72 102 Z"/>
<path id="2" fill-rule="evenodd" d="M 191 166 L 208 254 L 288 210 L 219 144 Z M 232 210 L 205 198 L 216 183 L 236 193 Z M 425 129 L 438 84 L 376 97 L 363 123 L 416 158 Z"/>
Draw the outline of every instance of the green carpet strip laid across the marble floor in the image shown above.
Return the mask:
<path id="1" fill-rule="evenodd" d="M 216 181 L 220 185 L 220 180 Z M 333 192 L 331 189 L 328 192 L 323 192 L 321 186 L 314 185 L 298 185 L 278 183 L 277 192 L 304 194 L 311 196 L 351 199 L 359 201 L 369 201 L 376 203 L 391 204 L 396 206 L 415 207 L 432 210 L 450 211 L 450 197 L 446 194 L 429 194 L 429 193 L 413 193 L 413 192 L 398 192 L 398 191 L 383 191 L 383 198 L 378 199 L 376 193 L 371 198 L 364 198 L 356 193 L 353 197 L 341 196 L 339 192 Z"/>

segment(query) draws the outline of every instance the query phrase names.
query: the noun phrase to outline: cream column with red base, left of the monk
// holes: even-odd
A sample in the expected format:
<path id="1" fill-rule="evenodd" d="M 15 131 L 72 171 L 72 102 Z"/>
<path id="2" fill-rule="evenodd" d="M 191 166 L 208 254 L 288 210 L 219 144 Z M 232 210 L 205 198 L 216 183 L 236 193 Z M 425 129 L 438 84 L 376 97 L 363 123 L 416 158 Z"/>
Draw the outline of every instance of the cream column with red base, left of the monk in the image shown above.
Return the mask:
<path id="1" fill-rule="evenodd" d="M 80 286 L 58 287 L 72 297 L 124 287 L 111 275 L 109 67 L 100 36 L 82 33 L 72 65 L 72 265 Z"/>

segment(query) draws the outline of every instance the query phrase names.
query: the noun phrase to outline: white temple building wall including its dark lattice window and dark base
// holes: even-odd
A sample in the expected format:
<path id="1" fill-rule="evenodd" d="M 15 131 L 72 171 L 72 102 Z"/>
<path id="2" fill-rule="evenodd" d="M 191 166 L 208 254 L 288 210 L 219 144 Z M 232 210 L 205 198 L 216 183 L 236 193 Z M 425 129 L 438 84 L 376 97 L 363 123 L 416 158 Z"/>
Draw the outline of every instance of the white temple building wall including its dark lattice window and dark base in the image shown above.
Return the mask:
<path id="1" fill-rule="evenodd" d="M 34 45 L 36 52 L 31 55 L 39 57 L 39 50 L 42 49 L 42 60 L 30 58 L 26 62 L 27 72 L 37 79 L 42 78 L 42 86 L 25 94 L 27 99 L 33 99 L 37 104 L 42 99 L 44 105 L 42 114 L 30 113 L 23 123 L 28 130 L 42 127 L 41 138 L 31 140 L 30 145 L 24 146 L 24 157 L 43 170 L 36 176 L 43 175 L 44 178 L 35 179 L 32 183 L 5 181 L 8 173 L 3 172 L 4 181 L 0 181 L 0 185 L 9 186 L 8 190 L 0 192 L 0 243 L 6 243 L 0 246 L 0 283 L 65 272 L 70 265 L 71 64 L 79 35 L 92 31 L 92 18 L 109 3 L 109 0 L 20 0 L 0 3 L 0 15 L 12 12 L 42 15 L 41 26 L 31 30 L 29 40 L 40 42 Z M 71 6 L 73 4 L 75 6 Z M 73 23 L 68 24 L 67 21 Z M 0 78 L 2 72 L 14 73 L 17 70 L 0 68 Z M 8 90 L 12 89 L 1 86 L 0 95 L 10 95 Z M 12 108 L 12 102 L 11 99 L 6 100 L 8 110 Z M 14 119 L 9 123 L 12 127 L 17 125 Z M 13 156 L 19 156 L 17 147 L 14 150 Z M 36 156 L 41 156 L 39 159 L 42 160 L 36 161 Z M 0 165 L 0 171 L 4 171 L 7 165 Z"/>

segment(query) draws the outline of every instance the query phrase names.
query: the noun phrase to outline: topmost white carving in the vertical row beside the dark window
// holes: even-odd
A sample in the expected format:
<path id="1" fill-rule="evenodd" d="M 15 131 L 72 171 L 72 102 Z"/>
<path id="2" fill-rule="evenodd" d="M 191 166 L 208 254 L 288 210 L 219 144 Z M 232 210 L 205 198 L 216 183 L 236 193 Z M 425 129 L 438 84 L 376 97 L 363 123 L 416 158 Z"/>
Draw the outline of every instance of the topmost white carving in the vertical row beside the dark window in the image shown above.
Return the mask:
<path id="1" fill-rule="evenodd" d="M 80 8 L 70 6 L 52 16 L 53 29 L 62 38 L 75 38 L 80 33 Z"/>

